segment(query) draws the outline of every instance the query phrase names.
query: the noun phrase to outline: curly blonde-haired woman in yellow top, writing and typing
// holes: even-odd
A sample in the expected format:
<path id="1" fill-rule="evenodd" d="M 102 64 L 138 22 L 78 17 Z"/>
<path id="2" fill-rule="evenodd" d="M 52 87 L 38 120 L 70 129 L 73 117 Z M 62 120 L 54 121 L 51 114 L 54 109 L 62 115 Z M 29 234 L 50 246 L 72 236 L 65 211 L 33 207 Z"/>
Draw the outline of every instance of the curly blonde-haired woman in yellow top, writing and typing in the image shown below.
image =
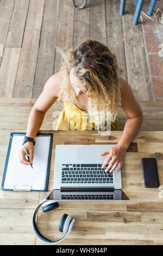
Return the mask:
<path id="1" fill-rule="evenodd" d="M 35 102 L 28 118 L 26 136 L 35 138 L 43 118 L 55 101 L 64 101 L 56 130 L 118 130 L 117 109 L 122 107 L 128 115 L 124 131 L 116 146 L 105 151 L 108 155 L 103 168 L 110 162 L 106 172 L 118 166 L 121 169 L 130 142 L 143 122 L 143 113 L 129 84 L 119 75 L 116 55 L 101 42 L 86 40 L 75 49 L 62 52 L 59 72 L 51 76 Z M 102 114 L 103 113 L 103 114 Z M 108 114 L 109 113 L 109 114 Z M 23 164 L 33 162 L 33 142 L 27 141 L 28 161 L 23 147 L 19 152 Z"/>

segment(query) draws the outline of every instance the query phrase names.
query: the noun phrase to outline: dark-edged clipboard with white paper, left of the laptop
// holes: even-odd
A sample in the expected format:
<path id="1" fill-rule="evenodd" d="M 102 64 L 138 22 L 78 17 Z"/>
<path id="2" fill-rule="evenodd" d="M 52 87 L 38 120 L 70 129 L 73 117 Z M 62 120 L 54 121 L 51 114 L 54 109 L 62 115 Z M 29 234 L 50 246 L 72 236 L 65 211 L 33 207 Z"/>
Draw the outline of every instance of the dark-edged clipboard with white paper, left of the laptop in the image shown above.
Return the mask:
<path id="1" fill-rule="evenodd" d="M 47 192 L 51 168 L 53 133 L 37 133 L 34 145 L 33 169 L 30 164 L 22 164 L 17 150 L 14 150 L 22 147 L 22 140 L 25 135 L 26 133 L 24 132 L 10 133 L 1 190 Z M 41 145 L 43 145 L 43 148 L 41 148 Z"/>

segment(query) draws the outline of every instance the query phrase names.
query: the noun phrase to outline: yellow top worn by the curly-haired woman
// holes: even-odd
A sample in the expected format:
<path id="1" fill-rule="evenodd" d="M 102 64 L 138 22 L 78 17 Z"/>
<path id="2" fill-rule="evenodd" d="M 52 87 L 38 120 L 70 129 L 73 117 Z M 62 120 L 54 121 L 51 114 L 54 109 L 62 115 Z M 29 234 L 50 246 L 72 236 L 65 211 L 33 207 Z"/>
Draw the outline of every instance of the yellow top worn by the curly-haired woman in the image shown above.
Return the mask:
<path id="1" fill-rule="evenodd" d="M 95 123 L 86 111 L 82 111 L 82 109 L 78 108 L 76 105 L 70 105 L 68 101 L 64 101 L 64 109 L 62 109 L 58 117 L 55 130 L 95 130 Z M 118 122 L 116 119 L 115 122 L 111 122 L 111 131 L 117 130 Z"/>

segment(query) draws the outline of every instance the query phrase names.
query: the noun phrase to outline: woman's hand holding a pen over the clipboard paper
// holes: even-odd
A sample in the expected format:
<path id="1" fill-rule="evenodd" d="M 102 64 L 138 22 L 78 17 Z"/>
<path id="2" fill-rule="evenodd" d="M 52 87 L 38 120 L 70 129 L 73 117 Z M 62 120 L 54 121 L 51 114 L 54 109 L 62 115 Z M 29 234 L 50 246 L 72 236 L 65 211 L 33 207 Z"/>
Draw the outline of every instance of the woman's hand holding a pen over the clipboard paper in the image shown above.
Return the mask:
<path id="1" fill-rule="evenodd" d="M 27 152 L 29 154 L 29 161 L 26 159 L 26 153 L 24 151 L 24 147 L 26 147 Z M 22 148 L 20 149 L 20 151 L 18 151 L 18 155 L 20 158 L 20 162 L 22 164 L 33 164 L 33 155 L 34 155 L 34 146 L 33 146 L 33 142 L 29 142 L 27 141 L 26 143 L 24 143 L 24 145 L 22 146 Z"/>

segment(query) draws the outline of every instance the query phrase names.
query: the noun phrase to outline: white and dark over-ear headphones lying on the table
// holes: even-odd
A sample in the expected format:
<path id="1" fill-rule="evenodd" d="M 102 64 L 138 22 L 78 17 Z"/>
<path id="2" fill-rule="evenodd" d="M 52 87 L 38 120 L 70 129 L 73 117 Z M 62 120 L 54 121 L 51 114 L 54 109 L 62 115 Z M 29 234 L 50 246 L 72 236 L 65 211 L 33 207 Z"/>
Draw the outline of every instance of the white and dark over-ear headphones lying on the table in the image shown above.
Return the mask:
<path id="1" fill-rule="evenodd" d="M 34 214 L 33 214 L 33 218 L 32 218 L 32 226 L 33 226 L 33 230 L 34 230 L 36 236 L 39 237 L 40 240 L 42 240 L 46 243 L 58 243 L 58 242 L 64 240 L 66 238 L 66 236 L 68 234 L 70 234 L 71 230 L 73 229 L 73 225 L 74 225 L 74 221 L 75 221 L 74 218 L 72 219 L 70 215 L 64 214 L 60 221 L 59 231 L 63 232 L 66 235 L 64 235 L 61 239 L 59 239 L 57 241 L 51 241 L 40 233 L 40 231 L 36 225 L 36 221 L 35 221 L 36 214 L 41 206 L 42 206 L 42 211 L 46 212 L 46 211 L 51 211 L 51 210 L 58 208 L 59 204 L 58 204 L 57 200 L 48 200 L 46 198 L 39 205 L 37 205 L 37 207 L 34 211 Z"/>

